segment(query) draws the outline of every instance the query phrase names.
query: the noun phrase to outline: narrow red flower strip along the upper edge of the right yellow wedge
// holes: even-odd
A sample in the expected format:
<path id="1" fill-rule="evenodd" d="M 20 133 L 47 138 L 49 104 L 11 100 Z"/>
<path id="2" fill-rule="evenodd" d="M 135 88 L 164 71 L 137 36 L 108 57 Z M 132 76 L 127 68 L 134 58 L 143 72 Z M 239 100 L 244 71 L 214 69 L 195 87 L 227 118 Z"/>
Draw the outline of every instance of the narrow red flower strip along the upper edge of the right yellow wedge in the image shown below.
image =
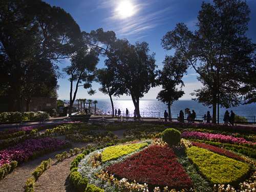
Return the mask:
<path id="1" fill-rule="evenodd" d="M 235 153 L 232 153 L 228 150 L 225 150 L 224 148 L 208 145 L 208 144 L 205 144 L 205 143 L 198 143 L 198 142 L 192 142 L 192 144 L 194 146 L 198 146 L 198 147 L 201 147 L 201 148 L 206 148 L 206 150 L 218 153 L 220 155 L 230 157 L 232 159 L 237 159 L 237 160 L 240 160 L 240 161 L 243 160 L 239 155 L 237 155 Z"/>

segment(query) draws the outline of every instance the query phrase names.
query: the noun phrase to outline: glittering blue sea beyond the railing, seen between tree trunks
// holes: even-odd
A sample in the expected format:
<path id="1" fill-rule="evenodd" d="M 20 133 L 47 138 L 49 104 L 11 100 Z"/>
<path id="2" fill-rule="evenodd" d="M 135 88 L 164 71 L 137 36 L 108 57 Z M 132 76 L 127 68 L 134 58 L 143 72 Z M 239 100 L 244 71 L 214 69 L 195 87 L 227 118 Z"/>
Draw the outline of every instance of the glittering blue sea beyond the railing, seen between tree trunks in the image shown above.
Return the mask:
<path id="1" fill-rule="evenodd" d="M 97 108 L 103 114 L 112 114 L 112 106 L 110 99 L 97 99 Z M 114 99 L 114 109 L 120 109 L 121 114 L 125 115 L 126 108 L 129 110 L 129 115 L 133 116 L 134 104 L 132 100 L 122 100 Z M 140 115 L 142 117 L 163 117 L 164 110 L 168 111 L 167 105 L 158 101 L 158 100 L 140 100 Z M 177 118 L 180 110 L 188 108 L 190 111 L 194 110 L 197 114 L 197 119 L 203 119 L 203 115 L 210 111 L 212 114 L 212 108 L 209 106 L 204 106 L 202 103 L 199 103 L 194 100 L 179 100 L 175 101 L 171 106 L 172 118 Z M 224 117 L 225 111 L 229 112 L 232 110 L 236 115 L 244 116 L 248 121 L 255 122 L 256 118 L 256 103 L 240 105 L 233 108 L 220 108 L 220 121 Z"/>

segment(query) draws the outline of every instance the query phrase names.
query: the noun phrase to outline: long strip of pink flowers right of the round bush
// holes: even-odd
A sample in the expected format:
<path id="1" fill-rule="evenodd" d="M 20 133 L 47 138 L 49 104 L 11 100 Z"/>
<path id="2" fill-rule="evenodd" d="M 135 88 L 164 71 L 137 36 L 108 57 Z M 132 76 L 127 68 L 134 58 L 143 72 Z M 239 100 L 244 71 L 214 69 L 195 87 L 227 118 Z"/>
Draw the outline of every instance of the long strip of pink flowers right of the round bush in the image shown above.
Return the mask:
<path id="1" fill-rule="evenodd" d="M 222 143 L 255 144 L 250 141 L 246 141 L 244 138 L 241 138 L 241 137 L 232 137 L 228 135 L 210 134 L 210 133 L 202 133 L 202 132 L 183 132 L 181 137 L 214 140 Z"/>

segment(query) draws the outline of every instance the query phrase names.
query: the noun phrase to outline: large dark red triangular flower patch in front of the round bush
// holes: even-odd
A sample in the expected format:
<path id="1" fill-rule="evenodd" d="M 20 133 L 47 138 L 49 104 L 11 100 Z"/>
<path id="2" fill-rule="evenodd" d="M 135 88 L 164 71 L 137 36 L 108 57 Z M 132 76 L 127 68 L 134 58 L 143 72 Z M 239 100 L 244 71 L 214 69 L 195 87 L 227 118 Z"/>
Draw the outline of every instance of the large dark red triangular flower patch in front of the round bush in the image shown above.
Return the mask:
<path id="1" fill-rule="evenodd" d="M 150 188 L 168 186 L 182 189 L 192 186 L 189 176 L 168 146 L 150 146 L 106 170 L 118 178 L 147 183 Z"/>

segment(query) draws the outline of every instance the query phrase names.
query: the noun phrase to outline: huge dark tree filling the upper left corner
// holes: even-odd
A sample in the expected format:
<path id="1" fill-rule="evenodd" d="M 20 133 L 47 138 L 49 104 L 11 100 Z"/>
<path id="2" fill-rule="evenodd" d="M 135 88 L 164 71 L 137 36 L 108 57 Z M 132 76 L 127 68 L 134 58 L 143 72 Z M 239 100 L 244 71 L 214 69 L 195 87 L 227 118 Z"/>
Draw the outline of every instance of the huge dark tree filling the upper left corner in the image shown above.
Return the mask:
<path id="1" fill-rule="evenodd" d="M 80 29 L 63 9 L 39 0 L 6 0 L 0 7 L 0 89 L 9 98 L 9 110 L 20 111 L 25 94 L 33 96 L 24 79 L 39 74 L 27 75 L 31 65 L 72 56 Z M 32 89 L 40 89 L 39 84 Z"/>

